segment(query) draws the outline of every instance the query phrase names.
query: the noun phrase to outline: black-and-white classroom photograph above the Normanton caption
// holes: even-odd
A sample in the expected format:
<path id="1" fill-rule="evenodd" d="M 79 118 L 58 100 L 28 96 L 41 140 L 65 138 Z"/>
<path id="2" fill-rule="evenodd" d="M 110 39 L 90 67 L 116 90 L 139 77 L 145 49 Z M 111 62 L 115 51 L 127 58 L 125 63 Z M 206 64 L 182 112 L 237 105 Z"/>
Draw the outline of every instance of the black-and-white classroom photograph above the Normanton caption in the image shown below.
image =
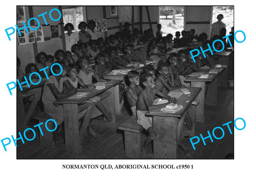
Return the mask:
<path id="1" fill-rule="evenodd" d="M 130 6 L 118 8 L 130 11 Z M 85 10 L 91 18 L 98 13 L 91 6 Z M 47 80 L 42 72 L 40 84 L 18 92 L 17 110 L 22 111 L 17 112 L 17 127 L 53 119 L 49 127 L 57 128 L 42 128 L 45 136 L 35 128 L 39 135 L 29 144 L 35 151 L 18 146 L 17 159 L 234 159 L 234 128 L 223 137 L 227 127 L 220 127 L 234 120 L 234 6 L 131 10 L 144 13 L 147 23 L 134 18 L 120 29 L 115 19 L 108 24 L 112 31 L 102 37 L 99 33 L 107 30 L 108 20 L 102 17 L 87 22 L 83 34 L 89 38 L 71 32 L 65 41 L 59 40 L 61 50 L 47 46 L 48 40 L 36 54 L 30 51 L 38 58 L 28 65 L 35 62 L 39 70 L 51 66 L 47 57 L 55 56 L 66 73 L 49 74 Z M 86 20 L 74 23 L 77 19 L 60 24 L 65 28 L 50 24 L 50 39 L 59 39 L 64 29 L 76 29 L 74 24 L 82 31 Z M 35 31 L 40 42 L 42 30 Z M 222 38 L 227 35 L 231 43 Z M 28 37 L 29 43 L 35 41 L 34 32 Z M 65 43 L 76 37 L 67 53 Z M 194 52 L 206 50 L 208 44 L 212 53 Z M 22 52 L 17 56 L 21 61 L 26 57 Z M 22 95 L 34 89 L 26 102 Z"/>

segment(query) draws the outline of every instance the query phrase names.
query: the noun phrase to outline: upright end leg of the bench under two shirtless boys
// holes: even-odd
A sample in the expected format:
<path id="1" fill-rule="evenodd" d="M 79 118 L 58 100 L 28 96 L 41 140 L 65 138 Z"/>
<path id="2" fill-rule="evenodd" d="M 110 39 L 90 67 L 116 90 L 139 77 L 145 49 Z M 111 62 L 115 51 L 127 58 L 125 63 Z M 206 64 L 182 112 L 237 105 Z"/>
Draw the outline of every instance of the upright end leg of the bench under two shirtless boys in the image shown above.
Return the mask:
<path id="1" fill-rule="evenodd" d="M 140 159 L 141 141 L 141 133 L 124 131 L 125 155 Z"/>

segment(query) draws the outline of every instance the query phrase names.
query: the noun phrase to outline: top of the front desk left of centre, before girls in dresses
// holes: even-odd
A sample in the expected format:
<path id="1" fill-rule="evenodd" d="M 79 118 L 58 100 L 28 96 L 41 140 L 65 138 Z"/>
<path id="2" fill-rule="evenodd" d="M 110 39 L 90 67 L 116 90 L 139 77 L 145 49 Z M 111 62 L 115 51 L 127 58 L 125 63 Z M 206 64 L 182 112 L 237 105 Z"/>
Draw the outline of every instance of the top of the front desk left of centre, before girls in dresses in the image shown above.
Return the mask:
<path id="1" fill-rule="evenodd" d="M 79 91 L 79 92 L 89 92 L 89 94 L 87 94 L 85 97 L 81 97 L 81 98 L 68 98 L 68 97 L 75 95 L 75 94 L 73 94 L 68 97 L 60 98 L 59 100 L 55 101 L 54 104 L 83 104 L 87 100 L 89 100 L 89 98 L 92 98 L 93 96 L 96 96 L 119 83 L 120 83 L 120 81 L 110 80 L 110 81 L 107 81 L 107 83 L 105 85 L 106 88 L 104 88 L 104 89 L 101 89 L 101 90 L 92 89 L 90 91 Z"/>

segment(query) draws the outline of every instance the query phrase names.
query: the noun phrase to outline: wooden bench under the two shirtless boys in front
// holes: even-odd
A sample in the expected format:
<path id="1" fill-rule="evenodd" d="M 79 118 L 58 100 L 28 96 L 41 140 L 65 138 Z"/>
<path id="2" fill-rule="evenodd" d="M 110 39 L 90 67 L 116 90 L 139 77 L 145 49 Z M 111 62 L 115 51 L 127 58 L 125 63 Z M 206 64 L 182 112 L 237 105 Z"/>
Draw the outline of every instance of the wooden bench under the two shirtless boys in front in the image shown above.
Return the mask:
<path id="1" fill-rule="evenodd" d="M 140 159 L 143 127 L 137 124 L 137 118 L 134 115 L 129 117 L 119 126 L 119 129 L 124 130 L 125 155 Z"/>

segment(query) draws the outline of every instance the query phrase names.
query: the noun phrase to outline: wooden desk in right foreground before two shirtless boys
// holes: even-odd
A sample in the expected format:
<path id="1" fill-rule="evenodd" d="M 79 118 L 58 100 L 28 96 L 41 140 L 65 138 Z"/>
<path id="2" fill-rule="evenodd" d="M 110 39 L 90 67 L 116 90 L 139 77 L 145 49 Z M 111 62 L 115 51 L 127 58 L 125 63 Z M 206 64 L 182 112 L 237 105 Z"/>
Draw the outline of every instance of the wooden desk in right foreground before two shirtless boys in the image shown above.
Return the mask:
<path id="1" fill-rule="evenodd" d="M 175 92 L 181 92 L 181 88 Z M 183 109 L 176 113 L 161 112 L 161 109 L 148 111 L 146 116 L 153 116 L 153 127 L 156 131 L 154 139 L 154 159 L 175 159 L 184 119 L 181 119 L 189 109 L 191 103 L 201 91 L 198 87 L 188 87 L 190 94 L 183 94 L 178 98 L 177 104 L 183 105 Z"/>

